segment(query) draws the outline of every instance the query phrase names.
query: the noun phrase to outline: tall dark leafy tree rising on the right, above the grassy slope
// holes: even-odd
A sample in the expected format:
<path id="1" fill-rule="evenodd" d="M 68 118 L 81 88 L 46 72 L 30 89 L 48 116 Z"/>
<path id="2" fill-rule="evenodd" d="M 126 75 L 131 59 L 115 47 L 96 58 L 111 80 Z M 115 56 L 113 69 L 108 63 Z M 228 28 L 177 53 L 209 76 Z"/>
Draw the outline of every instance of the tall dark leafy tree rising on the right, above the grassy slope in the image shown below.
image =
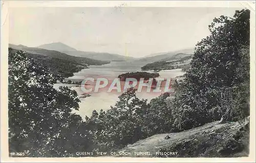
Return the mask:
<path id="1" fill-rule="evenodd" d="M 248 115 L 249 18 L 249 10 L 236 11 L 233 18 L 215 18 L 210 35 L 197 43 L 183 88 L 172 104 L 178 130 Z"/>

